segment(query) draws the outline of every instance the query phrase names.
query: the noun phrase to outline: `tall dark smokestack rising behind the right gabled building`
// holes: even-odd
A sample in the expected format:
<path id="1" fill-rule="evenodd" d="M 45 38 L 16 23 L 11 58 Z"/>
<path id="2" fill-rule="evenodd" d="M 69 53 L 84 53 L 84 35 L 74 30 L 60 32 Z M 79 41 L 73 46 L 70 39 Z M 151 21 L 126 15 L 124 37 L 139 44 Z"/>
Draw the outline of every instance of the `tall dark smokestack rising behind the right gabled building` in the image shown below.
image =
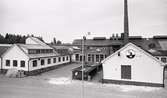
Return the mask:
<path id="1" fill-rule="evenodd" d="M 124 0 L 124 43 L 129 41 L 128 1 Z"/>

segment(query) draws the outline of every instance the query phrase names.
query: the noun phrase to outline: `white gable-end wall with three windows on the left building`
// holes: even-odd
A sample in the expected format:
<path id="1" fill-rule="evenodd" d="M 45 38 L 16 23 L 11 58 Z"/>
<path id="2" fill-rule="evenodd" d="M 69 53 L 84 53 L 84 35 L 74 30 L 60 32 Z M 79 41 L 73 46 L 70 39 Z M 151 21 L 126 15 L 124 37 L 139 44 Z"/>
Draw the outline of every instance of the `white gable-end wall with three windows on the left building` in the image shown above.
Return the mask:
<path id="1" fill-rule="evenodd" d="M 6 66 L 6 60 L 10 60 L 10 66 Z M 17 67 L 13 67 L 13 60 L 17 60 Z M 25 67 L 20 67 L 20 61 L 25 61 Z M 9 49 L 3 56 L 3 69 L 16 68 L 18 70 L 28 71 L 28 57 L 24 54 L 23 51 L 16 45 Z"/>

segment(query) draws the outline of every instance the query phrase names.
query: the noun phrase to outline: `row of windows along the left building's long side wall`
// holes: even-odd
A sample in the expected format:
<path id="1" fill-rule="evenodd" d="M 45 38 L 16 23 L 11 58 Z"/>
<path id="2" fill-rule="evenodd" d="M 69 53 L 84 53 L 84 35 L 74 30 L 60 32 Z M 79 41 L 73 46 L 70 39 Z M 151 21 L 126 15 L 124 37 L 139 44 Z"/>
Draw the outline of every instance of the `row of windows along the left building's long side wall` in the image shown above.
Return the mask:
<path id="1" fill-rule="evenodd" d="M 58 62 L 61 62 L 61 57 L 58 57 L 58 58 L 53 58 L 53 63 L 56 63 L 57 59 L 58 59 Z M 62 57 L 62 61 L 65 61 L 65 60 L 68 61 L 69 57 L 68 56 L 67 57 Z M 41 66 L 44 66 L 45 65 L 45 60 L 41 59 L 40 64 L 41 64 Z M 50 58 L 47 59 L 47 64 L 51 64 L 51 59 Z M 37 67 L 37 65 L 38 65 L 37 60 L 33 60 L 32 61 L 32 66 Z"/>

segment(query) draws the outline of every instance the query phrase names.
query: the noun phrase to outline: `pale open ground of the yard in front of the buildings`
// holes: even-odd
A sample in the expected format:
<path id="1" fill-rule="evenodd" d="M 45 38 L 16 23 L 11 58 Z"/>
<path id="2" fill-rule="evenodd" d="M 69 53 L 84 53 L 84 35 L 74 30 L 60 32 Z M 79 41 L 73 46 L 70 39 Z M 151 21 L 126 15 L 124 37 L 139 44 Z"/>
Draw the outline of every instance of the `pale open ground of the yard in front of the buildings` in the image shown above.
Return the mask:
<path id="1" fill-rule="evenodd" d="M 69 64 L 37 76 L 7 78 L 0 76 L 0 98 L 167 98 L 167 87 L 101 84 L 96 77 L 84 82 L 71 79 Z M 166 79 L 167 79 L 167 72 Z M 165 81 L 167 86 L 167 81 Z M 82 89 L 84 86 L 84 90 Z"/>

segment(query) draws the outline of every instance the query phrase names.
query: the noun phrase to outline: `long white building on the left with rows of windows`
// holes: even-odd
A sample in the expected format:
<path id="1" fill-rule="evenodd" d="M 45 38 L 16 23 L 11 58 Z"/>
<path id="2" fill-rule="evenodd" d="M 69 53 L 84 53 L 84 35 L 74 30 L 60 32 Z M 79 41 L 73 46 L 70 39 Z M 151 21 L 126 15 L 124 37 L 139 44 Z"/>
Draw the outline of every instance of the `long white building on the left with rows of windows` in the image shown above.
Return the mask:
<path id="1" fill-rule="evenodd" d="M 36 74 L 60 64 L 69 63 L 68 55 L 60 55 L 37 38 L 29 37 L 26 44 L 13 44 L 2 56 L 1 69 L 24 70 Z"/>

